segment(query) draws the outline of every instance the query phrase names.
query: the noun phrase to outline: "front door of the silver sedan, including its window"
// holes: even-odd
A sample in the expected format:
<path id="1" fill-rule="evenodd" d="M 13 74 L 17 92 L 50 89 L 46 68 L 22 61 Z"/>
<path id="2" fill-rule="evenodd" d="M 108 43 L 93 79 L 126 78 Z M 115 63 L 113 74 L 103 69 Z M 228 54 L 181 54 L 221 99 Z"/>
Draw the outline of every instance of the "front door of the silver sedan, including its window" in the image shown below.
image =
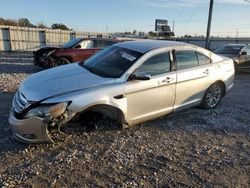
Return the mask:
<path id="1" fill-rule="evenodd" d="M 136 72 L 146 72 L 147 81 L 131 80 L 126 85 L 127 121 L 139 123 L 172 112 L 176 73 L 171 71 L 169 53 L 149 57 Z"/>

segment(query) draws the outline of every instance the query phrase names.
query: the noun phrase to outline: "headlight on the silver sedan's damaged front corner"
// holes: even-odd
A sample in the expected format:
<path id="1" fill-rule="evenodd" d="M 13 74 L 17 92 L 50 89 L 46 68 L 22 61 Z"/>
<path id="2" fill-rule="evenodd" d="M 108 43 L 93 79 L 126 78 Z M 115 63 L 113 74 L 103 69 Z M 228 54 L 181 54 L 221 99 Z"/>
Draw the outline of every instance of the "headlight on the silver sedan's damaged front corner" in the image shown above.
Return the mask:
<path id="1" fill-rule="evenodd" d="M 68 106 L 67 102 L 62 102 L 58 104 L 41 104 L 40 106 L 30 109 L 24 116 L 24 118 L 30 118 L 37 116 L 40 118 L 51 117 L 57 118 L 61 116 Z"/>

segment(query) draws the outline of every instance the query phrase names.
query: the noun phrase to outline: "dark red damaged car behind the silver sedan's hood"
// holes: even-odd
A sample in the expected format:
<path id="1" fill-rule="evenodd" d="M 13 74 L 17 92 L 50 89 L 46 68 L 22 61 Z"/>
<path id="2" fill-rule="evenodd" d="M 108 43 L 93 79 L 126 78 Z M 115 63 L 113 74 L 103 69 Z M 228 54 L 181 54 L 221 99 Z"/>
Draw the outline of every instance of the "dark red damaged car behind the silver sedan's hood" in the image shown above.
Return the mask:
<path id="1" fill-rule="evenodd" d="M 111 38 L 75 38 L 61 46 L 44 46 L 34 52 L 34 64 L 44 68 L 84 61 L 103 48 L 121 42 Z"/>

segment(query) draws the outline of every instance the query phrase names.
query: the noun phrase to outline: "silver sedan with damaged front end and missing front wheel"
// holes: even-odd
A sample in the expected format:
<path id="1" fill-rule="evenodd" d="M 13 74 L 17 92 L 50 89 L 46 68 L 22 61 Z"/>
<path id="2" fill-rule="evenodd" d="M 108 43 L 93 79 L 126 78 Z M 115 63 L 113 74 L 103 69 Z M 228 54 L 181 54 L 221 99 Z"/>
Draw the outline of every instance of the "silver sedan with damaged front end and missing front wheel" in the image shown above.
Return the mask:
<path id="1" fill-rule="evenodd" d="M 45 70 L 19 87 L 9 117 L 22 142 L 52 142 L 50 131 L 95 111 L 123 127 L 193 106 L 215 108 L 232 88 L 234 63 L 171 41 L 115 44 L 86 62 Z"/>

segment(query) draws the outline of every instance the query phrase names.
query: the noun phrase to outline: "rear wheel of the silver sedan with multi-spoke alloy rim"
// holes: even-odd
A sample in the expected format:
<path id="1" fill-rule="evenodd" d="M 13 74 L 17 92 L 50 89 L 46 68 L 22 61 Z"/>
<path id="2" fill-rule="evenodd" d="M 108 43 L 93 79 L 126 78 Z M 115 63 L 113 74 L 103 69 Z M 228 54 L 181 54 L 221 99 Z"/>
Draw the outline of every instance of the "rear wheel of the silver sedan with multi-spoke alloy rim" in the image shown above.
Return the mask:
<path id="1" fill-rule="evenodd" d="M 218 106 L 223 97 L 223 86 L 220 83 L 211 85 L 201 102 L 201 107 L 204 109 L 213 109 Z"/>

